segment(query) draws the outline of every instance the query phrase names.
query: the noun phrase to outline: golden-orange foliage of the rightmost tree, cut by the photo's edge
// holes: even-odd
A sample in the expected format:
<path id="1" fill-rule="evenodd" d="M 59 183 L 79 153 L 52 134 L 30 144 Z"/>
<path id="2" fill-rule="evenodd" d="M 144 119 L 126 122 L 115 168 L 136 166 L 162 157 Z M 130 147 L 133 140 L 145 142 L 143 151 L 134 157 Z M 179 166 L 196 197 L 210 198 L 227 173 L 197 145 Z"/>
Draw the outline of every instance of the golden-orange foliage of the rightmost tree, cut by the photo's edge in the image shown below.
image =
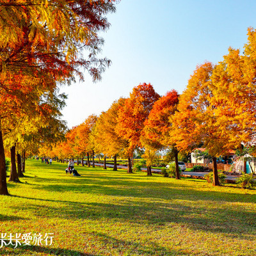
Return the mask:
<path id="1" fill-rule="evenodd" d="M 234 148 L 255 141 L 255 52 L 256 31 L 249 28 L 244 55 L 230 48 L 212 74 L 212 105 L 216 106 L 218 129 L 228 132 L 227 144 Z"/>

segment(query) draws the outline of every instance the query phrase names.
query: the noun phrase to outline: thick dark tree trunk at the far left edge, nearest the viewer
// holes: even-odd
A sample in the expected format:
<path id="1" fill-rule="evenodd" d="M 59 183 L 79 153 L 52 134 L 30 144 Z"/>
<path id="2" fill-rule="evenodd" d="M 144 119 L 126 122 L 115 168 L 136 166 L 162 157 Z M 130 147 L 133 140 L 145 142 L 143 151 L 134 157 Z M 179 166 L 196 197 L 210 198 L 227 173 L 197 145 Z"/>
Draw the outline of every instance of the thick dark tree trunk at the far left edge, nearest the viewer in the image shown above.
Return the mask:
<path id="1" fill-rule="evenodd" d="M 0 195 L 9 195 L 6 182 L 6 166 L 4 155 L 4 142 L 1 130 L 1 118 L 0 118 Z"/>

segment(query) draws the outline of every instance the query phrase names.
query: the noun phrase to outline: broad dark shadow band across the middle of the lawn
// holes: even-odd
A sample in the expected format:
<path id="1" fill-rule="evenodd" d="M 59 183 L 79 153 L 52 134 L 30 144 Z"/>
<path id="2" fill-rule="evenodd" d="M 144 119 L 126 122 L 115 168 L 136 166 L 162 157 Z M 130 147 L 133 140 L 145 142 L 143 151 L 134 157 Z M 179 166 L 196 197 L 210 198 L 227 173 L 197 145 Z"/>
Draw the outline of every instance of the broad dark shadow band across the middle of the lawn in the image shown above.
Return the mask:
<path id="1" fill-rule="evenodd" d="M 48 201 L 48 200 L 45 200 Z M 52 200 L 49 200 L 52 201 Z M 63 201 L 58 201 L 62 202 Z M 182 202 L 150 202 L 129 200 L 116 204 L 102 202 L 65 202 L 50 206 L 26 204 L 15 207 L 23 211 L 34 212 L 37 218 L 61 218 L 62 220 L 92 220 L 101 222 L 113 219 L 136 225 L 165 227 L 170 223 L 185 225 L 192 230 L 222 233 L 236 239 L 252 239 L 256 232 L 255 212 L 237 209 L 225 209 L 216 205 L 216 209 L 205 209 L 204 205 L 184 205 Z M 115 221 L 114 221 L 115 222 Z"/>

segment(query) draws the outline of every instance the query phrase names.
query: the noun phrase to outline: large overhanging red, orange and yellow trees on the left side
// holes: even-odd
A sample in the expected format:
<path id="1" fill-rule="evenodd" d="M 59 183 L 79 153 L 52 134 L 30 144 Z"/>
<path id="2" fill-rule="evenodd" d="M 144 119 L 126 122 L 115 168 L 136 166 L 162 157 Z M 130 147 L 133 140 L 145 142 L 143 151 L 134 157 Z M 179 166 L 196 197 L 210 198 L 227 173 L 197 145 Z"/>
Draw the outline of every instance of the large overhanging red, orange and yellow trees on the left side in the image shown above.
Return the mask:
<path id="1" fill-rule="evenodd" d="M 115 0 L 8 0 L 0 3 L 0 195 L 8 195 L 4 148 L 15 156 L 65 133 L 63 83 L 94 81 L 110 64 L 97 58 Z M 4 143 L 3 143 L 4 141 Z M 10 180 L 17 181 L 12 159 Z"/>

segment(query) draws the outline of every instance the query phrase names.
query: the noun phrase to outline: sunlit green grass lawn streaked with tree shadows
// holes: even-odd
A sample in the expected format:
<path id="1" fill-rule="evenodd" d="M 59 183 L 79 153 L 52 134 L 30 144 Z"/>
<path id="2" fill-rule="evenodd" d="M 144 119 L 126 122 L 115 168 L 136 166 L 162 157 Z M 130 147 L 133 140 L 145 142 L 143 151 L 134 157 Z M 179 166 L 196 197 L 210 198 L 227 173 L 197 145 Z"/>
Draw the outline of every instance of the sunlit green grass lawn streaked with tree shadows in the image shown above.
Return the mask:
<path id="1" fill-rule="evenodd" d="M 22 183 L 8 183 L 1 233 L 54 238 L 0 255 L 256 255 L 255 190 L 66 166 L 28 160 Z"/>

